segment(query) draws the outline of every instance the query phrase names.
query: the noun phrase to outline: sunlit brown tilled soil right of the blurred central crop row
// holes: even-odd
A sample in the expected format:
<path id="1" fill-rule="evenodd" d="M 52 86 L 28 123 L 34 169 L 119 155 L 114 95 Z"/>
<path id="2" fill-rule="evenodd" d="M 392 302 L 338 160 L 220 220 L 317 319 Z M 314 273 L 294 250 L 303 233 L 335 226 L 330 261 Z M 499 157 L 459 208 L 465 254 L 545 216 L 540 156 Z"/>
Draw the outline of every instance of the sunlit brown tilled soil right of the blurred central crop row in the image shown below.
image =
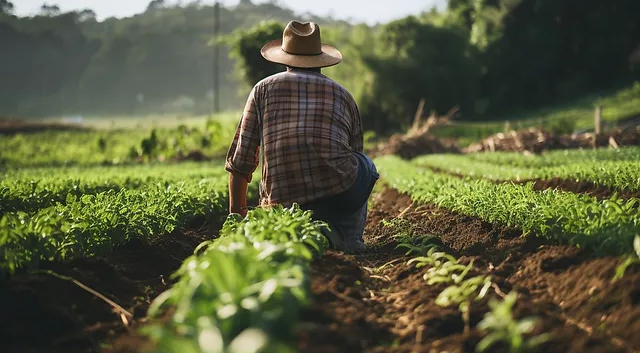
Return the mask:
<path id="1" fill-rule="evenodd" d="M 501 292 L 516 289 L 514 315 L 537 316 L 534 333 L 553 334 L 539 351 L 640 350 L 637 266 L 611 284 L 619 259 L 523 239 L 517 229 L 413 205 L 393 190 L 378 195 L 372 210 L 366 241 L 376 252 L 328 253 L 314 263 L 313 305 L 303 316 L 300 352 L 474 352 L 482 338 L 474 327 L 488 310 L 486 301 L 472 304 L 469 325 L 457 308 L 436 305 L 445 286 L 428 286 L 424 269 L 406 265 L 409 258 L 393 250 L 392 229 L 380 221 L 395 217 L 406 219 L 413 234 L 437 236 L 461 261 L 474 259 L 476 272 L 490 274 Z"/>

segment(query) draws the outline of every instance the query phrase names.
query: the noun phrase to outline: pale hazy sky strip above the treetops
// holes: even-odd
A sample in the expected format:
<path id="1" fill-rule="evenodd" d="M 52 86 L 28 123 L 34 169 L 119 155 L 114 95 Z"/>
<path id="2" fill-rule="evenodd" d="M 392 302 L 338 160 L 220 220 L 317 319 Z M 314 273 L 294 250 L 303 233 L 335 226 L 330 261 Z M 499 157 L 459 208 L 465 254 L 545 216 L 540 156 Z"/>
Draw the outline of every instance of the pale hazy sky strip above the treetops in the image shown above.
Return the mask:
<path id="1" fill-rule="evenodd" d="M 254 0 L 255 2 L 263 2 Z M 126 17 L 143 12 L 149 0 L 13 0 L 18 15 L 34 15 L 43 3 L 58 5 L 62 11 L 92 9 L 102 20 L 107 17 Z M 175 3 L 169 0 L 168 3 Z M 182 1 L 190 2 L 189 0 Z M 205 0 L 202 3 L 213 3 Z M 225 5 L 236 5 L 238 0 L 222 0 Z M 332 14 L 339 19 L 352 18 L 370 24 L 416 14 L 434 5 L 444 7 L 446 0 L 278 0 L 297 13 L 311 12 L 316 15 Z"/>

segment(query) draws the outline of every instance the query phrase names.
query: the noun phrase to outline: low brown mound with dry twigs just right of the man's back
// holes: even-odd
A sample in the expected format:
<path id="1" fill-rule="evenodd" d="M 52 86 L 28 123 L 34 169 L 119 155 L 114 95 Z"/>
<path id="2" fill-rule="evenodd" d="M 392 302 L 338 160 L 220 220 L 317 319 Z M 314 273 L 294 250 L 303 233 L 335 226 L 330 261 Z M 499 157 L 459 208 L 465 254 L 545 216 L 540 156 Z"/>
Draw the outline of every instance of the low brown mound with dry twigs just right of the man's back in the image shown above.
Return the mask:
<path id="1" fill-rule="evenodd" d="M 411 159 L 424 154 L 459 153 L 458 145 L 454 141 L 444 141 L 429 133 L 395 134 L 385 143 L 371 151 L 373 157 L 393 154 L 404 159 Z"/>

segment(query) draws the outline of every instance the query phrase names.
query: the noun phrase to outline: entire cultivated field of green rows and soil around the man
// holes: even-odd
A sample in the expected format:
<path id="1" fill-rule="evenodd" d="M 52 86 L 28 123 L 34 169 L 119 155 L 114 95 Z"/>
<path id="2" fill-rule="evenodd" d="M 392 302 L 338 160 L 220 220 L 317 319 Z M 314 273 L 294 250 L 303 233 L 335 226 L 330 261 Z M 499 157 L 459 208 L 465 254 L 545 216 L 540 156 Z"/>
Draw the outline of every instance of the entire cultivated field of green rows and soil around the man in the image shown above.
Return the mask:
<path id="1" fill-rule="evenodd" d="M 640 350 L 637 148 L 379 157 L 355 255 L 227 216 L 229 128 L 191 129 L 0 136 L 3 351 Z"/>

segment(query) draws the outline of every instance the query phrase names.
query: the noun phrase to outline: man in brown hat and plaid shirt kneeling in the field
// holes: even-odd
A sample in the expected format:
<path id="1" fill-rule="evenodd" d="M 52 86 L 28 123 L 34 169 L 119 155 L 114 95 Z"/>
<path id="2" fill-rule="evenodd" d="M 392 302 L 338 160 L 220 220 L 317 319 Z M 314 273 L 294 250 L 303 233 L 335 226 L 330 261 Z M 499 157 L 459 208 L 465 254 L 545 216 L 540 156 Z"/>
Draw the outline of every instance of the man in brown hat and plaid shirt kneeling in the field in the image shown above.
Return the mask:
<path id="1" fill-rule="evenodd" d="M 320 70 L 342 54 L 313 22 L 292 21 L 260 51 L 287 70 L 258 82 L 227 154 L 229 212 L 247 213 L 247 184 L 262 148 L 262 206 L 294 203 L 329 224 L 332 246 L 365 249 L 367 199 L 378 179 L 362 152 L 362 121 L 351 94 Z"/>

